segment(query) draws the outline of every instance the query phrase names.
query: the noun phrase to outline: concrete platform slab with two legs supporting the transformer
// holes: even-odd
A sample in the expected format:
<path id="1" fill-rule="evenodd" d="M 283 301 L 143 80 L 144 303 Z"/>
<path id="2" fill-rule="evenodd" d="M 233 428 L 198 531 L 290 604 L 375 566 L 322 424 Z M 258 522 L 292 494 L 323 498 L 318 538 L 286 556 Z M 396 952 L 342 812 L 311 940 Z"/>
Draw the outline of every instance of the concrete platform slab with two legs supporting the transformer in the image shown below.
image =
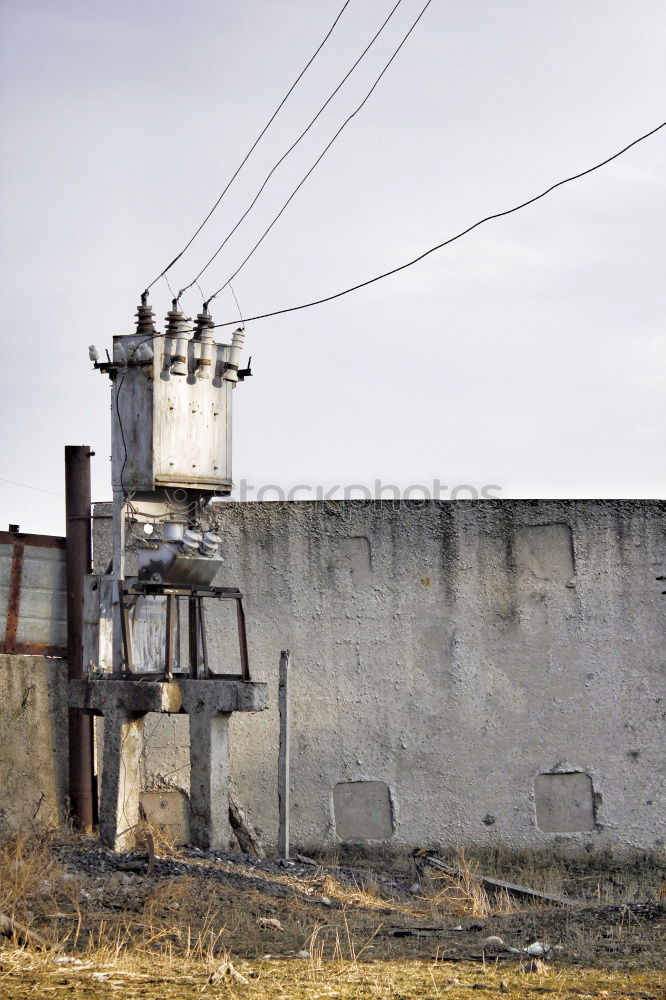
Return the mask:
<path id="1" fill-rule="evenodd" d="M 74 680 L 69 704 L 104 716 L 100 839 L 126 851 L 140 819 L 139 767 L 143 720 L 149 712 L 180 713 L 190 722 L 190 840 L 196 847 L 229 846 L 229 719 L 261 712 L 265 684 L 249 681 Z"/>

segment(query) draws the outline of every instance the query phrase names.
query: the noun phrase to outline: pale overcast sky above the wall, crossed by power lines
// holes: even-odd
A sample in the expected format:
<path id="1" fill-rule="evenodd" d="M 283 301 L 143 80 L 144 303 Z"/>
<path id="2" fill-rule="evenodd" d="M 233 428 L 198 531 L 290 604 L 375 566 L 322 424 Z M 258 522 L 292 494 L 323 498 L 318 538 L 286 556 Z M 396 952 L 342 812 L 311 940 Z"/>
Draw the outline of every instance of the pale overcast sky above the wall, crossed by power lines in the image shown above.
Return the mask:
<path id="1" fill-rule="evenodd" d="M 374 81 L 366 60 L 204 275 L 217 288 Z M 351 0 L 201 237 L 189 281 L 394 0 Z M 2 0 L 0 526 L 62 533 L 63 449 L 110 496 L 108 380 L 139 294 L 182 247 L 341 0 Z M 663 0 L 433 0 L 234 283 L 245 315 L 394 267 L 666 118 Z M 248 324 L 234 478 L 664 492 L 666 129 L 538 204 L 335 303 Z M 151 301 L 160 328 L 164 281 Z M 188 294 L 189 313 L 200 296 Z M 237 316 L 224 292 L 216 321 Z M 442 492 L 446 496 L 446 492 Z"/>

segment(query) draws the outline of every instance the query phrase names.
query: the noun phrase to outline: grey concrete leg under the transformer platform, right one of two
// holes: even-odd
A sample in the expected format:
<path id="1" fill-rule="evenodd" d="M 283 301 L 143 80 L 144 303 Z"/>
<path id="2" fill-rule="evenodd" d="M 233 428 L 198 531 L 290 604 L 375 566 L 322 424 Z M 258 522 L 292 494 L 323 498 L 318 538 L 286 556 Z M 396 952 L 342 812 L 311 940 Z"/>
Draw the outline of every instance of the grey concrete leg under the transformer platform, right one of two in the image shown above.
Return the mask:
<path id="1" fill-rule="evenodd" d="M 230 712 L 192 712 L 190 719 L 190 842 L 228 850 Z"/>

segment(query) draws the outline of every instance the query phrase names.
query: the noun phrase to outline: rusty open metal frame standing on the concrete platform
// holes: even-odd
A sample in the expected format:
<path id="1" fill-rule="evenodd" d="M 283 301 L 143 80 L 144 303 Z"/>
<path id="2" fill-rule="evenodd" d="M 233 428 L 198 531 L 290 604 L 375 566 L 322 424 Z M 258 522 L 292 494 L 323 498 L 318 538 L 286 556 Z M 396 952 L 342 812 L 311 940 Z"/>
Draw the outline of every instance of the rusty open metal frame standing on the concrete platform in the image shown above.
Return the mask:
<path id="1" fill-rule="evenodd" d="M 137 597 L 166 598 L 166 639 L 163 671 L 135 671 L 133 668 L 130 611 L 132 610 L 133 599 Z M 231 600 L 236 602 L 236 619 L 238 623 L 238 643 L 241 664 L 241 672 L 239 674 L 218 674 L 210 668 L 203 605 L 204 598 L 207 597 L 214 598 L 216 600 Z M 250 664 L 247 650 L 243 595 L 236 587 L 210 587 L 197 583 L 163 584 L 138 582 L 133 583 L 131 586 L 120 586 L 119 603 L 122 637 L 122 675 L 125 677 L 146 677 L 153 680 L 173 680 L 178 602 L 183 599 L 188 602 L 188 651 L 190 678 L 193 680 L 218 678 L 222 680 L 249 681 Z"/>

